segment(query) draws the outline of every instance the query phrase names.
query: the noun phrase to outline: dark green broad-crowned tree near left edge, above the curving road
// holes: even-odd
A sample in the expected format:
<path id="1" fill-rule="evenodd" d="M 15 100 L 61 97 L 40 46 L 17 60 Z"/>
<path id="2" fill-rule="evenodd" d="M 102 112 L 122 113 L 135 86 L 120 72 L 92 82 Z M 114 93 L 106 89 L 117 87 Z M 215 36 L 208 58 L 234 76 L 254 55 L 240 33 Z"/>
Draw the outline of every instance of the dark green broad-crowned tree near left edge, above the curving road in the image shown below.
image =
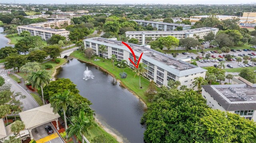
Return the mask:
<path id="1" fill-rule="evenodd" d="M 26 63 L 27 63 L 26 55 L 12 54 L 6 57 L 6 63 L 4 63 L 4 68 L 5 69 L 18 68 L 18 72 L 20 72 L 20 67 L 22 67 Z"/>

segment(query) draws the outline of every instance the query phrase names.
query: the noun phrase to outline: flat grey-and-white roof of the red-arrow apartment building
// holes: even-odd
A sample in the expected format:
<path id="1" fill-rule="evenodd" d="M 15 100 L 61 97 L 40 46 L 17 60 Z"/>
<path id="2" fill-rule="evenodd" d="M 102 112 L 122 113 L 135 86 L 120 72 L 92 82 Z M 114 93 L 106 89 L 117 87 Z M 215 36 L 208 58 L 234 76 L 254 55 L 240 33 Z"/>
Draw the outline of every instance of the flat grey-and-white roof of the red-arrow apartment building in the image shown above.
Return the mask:
<path id="1" fill-rule="evenodd" d="M 116 47 L 122 47 L 122 49 L 129 51 L 129 49 L 124 44 L 122 44 L 122 41 L 116 41 L 116 40 L 106 39 L 102 37 L 85 39 L 84 41 L 91 41 L 92 43 L 94 43 L 94 41 L 99 41 L 98 43 L 101 43 L 101 42 L 102 44 L 107 43 L 109 44 L 110 47 L 113 47 L 113 45 L 116 45 Z M 107 44 L 104 44 L 104 45 L 107 45 Z M 134 50 L 134 53 L 136 52 L 139 54 L 143 53 L 143 56 L 149 57 L 150 59 L 154 59 L 158 61 L 158 63 L 168 65 L 168 67 L 170 67 L 171 69 L 175 69 L 173 74 L 177 76 L 184 76 L 188 74 L 193 74 L 194 72 L 198 73 L 198 72 L 206 71 L 205 69 L 192 65 L 190 63 L 178 60 L 172 56 L 150 49 L 147 47 L 147 45 L 138 45 L 133 43 L 127 43 L 127 44 L 130 45 L 130 47 Z M 151 61 L 149 62 L 151 63 Z"/>

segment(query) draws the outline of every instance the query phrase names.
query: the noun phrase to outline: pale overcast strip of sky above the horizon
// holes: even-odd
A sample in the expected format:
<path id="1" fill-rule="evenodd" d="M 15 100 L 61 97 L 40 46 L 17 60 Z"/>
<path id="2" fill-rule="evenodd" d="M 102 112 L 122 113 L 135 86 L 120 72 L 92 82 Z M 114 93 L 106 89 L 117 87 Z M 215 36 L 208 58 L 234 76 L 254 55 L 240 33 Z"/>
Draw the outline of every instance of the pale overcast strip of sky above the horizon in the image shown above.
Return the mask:
<path id="1" fill-rule="evenodd" d="M 252 4 L 255 0 L 15 0 L 16 3 L 23 4 Z M 1 3 L 14 3 L 14 0 L 0 0 Z"/>

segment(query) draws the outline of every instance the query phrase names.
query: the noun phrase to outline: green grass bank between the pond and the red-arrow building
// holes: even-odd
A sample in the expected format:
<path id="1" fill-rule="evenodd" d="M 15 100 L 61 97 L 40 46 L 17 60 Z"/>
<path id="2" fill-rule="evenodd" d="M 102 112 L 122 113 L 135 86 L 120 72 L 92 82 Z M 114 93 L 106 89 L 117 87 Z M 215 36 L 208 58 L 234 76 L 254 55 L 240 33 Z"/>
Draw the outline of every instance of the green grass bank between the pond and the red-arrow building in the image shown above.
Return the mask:
<path id="1" fill-rule="evenodd" d="M 74 51 L 71 56 L 76 57 L 80 60 L 84 60 L 84 61 L 88 61 L 90 63 L 94 63 L 95 65 L 98 65 L 100 67 L 102 67 L 103 69 L 106 69 L 108 72 L 114 74 L 114 76 L 116 77 L 116 79 L 121 80 L 122 83 L 128 87 L 128 89 L 132 90 L 135 92 L 135 94 L 137 94 L 140 98 L 142 98 L 142 100 L 149 105 L 151 102 L 148 101 L 148 97 L 144 96 L 144 92 L 147 90 L 148 85 L 150 83 L 149 80 L 147 80 L 144 77 L 141 77 L 141 86 L 143 87 L 142 89 L 140 89 L 139 86 L 139 77 L 135 76 L 135 72 L 132 71 L 132 69 L 130 68 L 125 68 L 125 69 L 120 69 L 116 66 L 114 66 L 114 71 L 113 71 L 113 64 L 111 63 L 110 60 L 105 59 L 105 62 L 102 62 L 103 59 L 100 57 L 97 57 L 100 59 L 100 61 L 94 61 L 94 57 L 91 58 L 91 60 L 89 60 L 88 58 L 84 57 L 84 55 L 82 53 L 80 53 L 80 51 Z M 128 74 L 127 78 L 120 78 L 119 73 L 120 72 L 126 72 Z M 159 90 L 160 88 L 157 87 L 157 89 Z"/>

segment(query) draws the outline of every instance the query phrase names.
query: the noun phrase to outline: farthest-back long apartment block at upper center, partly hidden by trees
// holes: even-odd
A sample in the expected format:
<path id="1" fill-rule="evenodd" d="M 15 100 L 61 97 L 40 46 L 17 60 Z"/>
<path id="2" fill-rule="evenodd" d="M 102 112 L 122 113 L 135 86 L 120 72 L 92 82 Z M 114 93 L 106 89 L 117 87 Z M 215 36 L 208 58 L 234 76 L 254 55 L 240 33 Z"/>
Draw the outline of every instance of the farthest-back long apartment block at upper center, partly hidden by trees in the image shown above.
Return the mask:
<path id="1" fill-rule="evenodd" d="M 137 22 L 143 27 L 146 27 L 148 24 L 151 24 L 154 28 L 156 28 L 159 31 L 173 31 L 177 27 L 182 27 L 183 30 L 187 30 L 191 28 L 191 25 L 186 25 L 186 24 L 172 24 L 172 23 L 166 23 L 166 22 L 154 22 L 154 21 L 146 21 L 146 20 L 133 20 L 133 21 Z"/>

